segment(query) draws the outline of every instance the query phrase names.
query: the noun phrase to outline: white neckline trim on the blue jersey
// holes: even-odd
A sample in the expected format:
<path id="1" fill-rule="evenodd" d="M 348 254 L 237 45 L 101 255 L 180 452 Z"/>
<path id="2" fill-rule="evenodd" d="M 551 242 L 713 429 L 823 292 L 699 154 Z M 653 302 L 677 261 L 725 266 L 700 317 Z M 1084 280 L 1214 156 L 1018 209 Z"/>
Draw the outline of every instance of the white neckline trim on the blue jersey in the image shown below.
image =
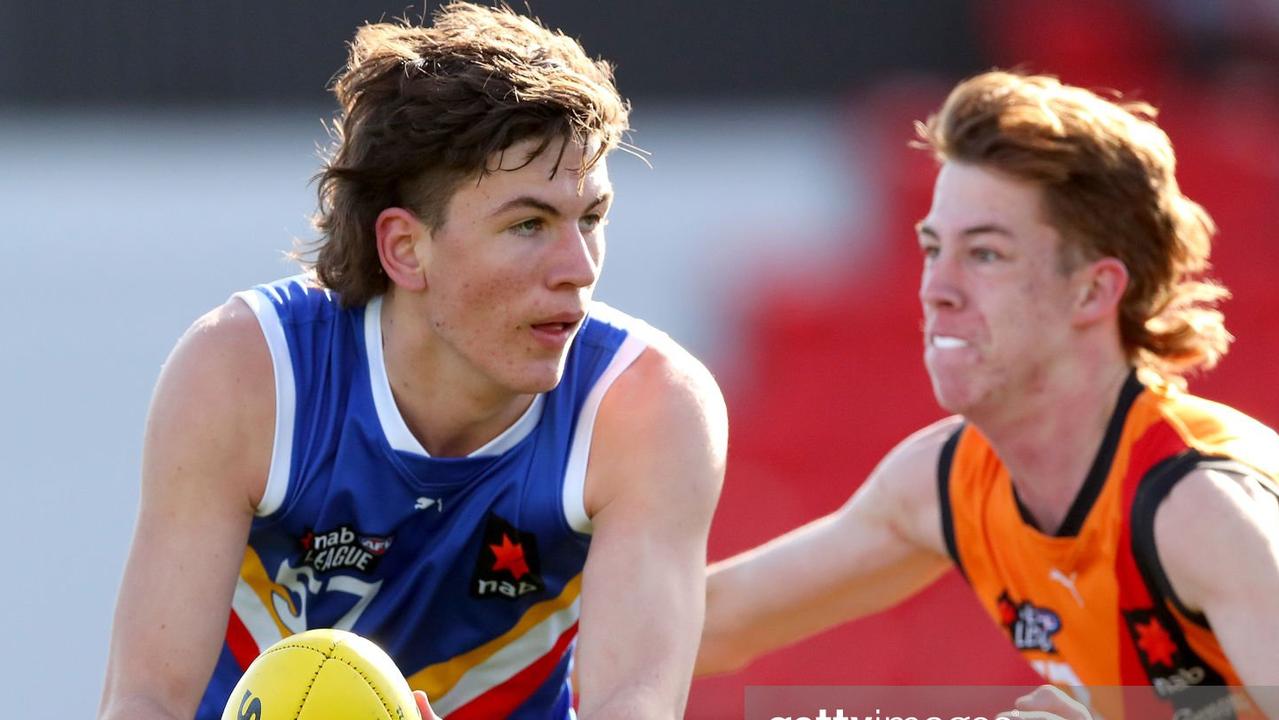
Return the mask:
<path id="1" fill-rule="evenodd" d="M 431 454 L 404 422 L 404 416 L 395 404 L 390 380 L 386 377 L 386 356 L 382 353 L 382 295 L 377 295 L 365 306 L 365 354 L 368 357 L 368 382 L 372 385 L 373 407 L 377 408 L 377 422 L 382 426 L 386 441 L 391 449 L 400 453 L 430 458 Z M 500 455 L 514 448 L 537 427 L 537 422 L 542 419 L 544 404 L 545 398 L 536 395 L 519 419 L 467 457 Z"/>

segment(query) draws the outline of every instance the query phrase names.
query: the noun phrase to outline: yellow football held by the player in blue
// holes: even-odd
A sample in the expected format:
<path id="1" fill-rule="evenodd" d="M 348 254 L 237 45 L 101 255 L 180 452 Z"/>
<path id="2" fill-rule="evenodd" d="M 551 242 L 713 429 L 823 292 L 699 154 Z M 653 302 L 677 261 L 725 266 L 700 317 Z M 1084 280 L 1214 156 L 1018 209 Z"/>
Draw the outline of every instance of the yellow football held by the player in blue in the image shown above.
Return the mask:
<path id="1" fill-rule="evenodd" d="M 417 720 L 408 682 L 354 633 L 307 630 L 266 648 L 235 684 L 223 720 Z"/>

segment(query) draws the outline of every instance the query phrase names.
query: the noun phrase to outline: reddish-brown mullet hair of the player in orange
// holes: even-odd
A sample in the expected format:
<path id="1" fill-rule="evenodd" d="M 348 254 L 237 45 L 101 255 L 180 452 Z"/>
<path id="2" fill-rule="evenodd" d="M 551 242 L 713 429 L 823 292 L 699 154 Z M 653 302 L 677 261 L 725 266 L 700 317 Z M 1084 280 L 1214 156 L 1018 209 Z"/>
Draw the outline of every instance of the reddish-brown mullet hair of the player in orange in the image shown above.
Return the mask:
<path id="1" fill-rule="evenodd" d="M 1062 233 L 1062 270 L 1115 257 L 1128 269 L 1119 333 L 1147 381 L 1184 387 L 1232 340 L 1202 279 L 1212 219 L 1177 185 L 1177 159 L 1145 102 L 1109 101 L 1049 75 L 989 72 L 959 83 L 916 123 L 917 147 L 939 162 L 998 169 L 1044 188 Z"/>

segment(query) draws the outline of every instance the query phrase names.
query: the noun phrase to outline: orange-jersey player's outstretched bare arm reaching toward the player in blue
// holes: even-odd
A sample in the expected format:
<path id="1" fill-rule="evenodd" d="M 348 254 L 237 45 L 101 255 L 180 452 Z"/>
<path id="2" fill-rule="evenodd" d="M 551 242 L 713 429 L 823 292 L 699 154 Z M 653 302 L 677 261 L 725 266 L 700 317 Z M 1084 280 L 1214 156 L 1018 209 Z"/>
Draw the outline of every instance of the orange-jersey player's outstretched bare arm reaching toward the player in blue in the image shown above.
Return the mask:
<path id="1" fill-rule="evenodd" d="M 949 567 L 938 455 L 955 422 L 906 439 L 835 513 L 712 565 L 697 674 L 737 670 L 935 581 Z"/>

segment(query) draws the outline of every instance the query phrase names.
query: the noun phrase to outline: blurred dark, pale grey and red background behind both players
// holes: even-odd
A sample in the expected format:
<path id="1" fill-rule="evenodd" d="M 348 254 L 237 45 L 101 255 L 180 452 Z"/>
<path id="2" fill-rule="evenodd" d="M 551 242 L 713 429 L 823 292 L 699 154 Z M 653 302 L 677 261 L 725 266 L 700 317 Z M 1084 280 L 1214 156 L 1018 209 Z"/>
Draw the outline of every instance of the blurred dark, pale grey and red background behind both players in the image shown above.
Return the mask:
<path id="1" fill-rule="evenodd" d="M 202 312 L 294 271 L 283 253 L 311 237 L 325 87 L 353 29 L 434 6 L 0 0 L 5 716 L 93 714 L 160 366 Z M 610 161 L 599 295 L 670 331 L 725 387 L 712 559 L 838 508 L 940 417 L 912 230 L 935 170 L 907 142 L 955 81 L 991 67 L 1161 107 L 1234 292 L 1238 340 L 1191 386 L 1279 423 L 1279 1 L 528 8 L 615 63 L 631 141 L 651 152 L 651 168 Z M 747 684 L 1031 682 L 952 574 L 697 682 L 688 716 L 741 717 Z"/>

